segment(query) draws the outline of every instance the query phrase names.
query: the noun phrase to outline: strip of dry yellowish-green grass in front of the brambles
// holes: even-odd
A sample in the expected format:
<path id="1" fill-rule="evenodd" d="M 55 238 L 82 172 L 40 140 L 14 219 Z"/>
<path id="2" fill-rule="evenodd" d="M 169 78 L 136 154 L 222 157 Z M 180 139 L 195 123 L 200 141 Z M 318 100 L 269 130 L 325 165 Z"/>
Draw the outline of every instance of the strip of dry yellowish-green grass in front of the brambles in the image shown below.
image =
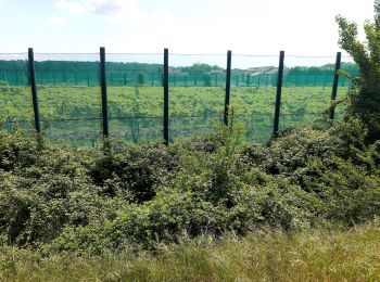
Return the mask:
<path id="1" fill-rule="evenodd" d="M 41 257 L 0 251 L 0 281 L 378 281 L 380 223 L 243 239 L 183 239 L 156 254 L 124 249 L 102 256 Z"/>

